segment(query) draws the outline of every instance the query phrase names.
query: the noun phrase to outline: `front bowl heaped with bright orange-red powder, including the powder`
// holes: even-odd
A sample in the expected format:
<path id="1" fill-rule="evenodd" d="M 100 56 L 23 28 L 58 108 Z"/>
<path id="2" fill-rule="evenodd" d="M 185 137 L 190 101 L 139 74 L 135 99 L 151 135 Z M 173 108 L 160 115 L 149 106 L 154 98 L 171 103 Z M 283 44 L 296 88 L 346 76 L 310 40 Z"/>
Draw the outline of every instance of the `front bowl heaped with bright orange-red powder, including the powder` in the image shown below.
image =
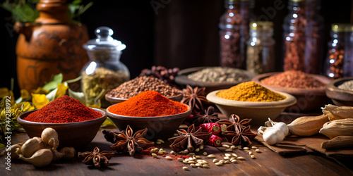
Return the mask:
<path id="1" fill-rule="evenodd" d="M 107 108 L 107 115 L 119 130 L 127 125 L 133 131 L 148 128 L 146 139 L 167 139 L 179 128 L 191 108 L 184 103 L 167 99 L 155 91 L 145 91 Z"/>

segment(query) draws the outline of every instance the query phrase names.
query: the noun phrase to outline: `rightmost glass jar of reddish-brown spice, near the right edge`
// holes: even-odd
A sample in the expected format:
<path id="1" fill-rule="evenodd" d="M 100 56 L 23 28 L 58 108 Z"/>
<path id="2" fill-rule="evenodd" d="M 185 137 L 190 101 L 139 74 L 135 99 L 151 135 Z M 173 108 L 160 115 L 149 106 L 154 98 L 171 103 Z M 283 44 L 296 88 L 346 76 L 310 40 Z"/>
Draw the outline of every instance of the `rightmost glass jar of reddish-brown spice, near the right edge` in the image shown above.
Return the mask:
<path id="1" fill-rule="evenodd" d="M 347 23 L 340 23 L 333 24 L 331 27 L 331 40 L 328 42 L 328 54 L 324 65 L 325 75 L 328 77 L 343 77 L 343 62 L 345 61 L 345 56 L 347 56 L 345 54 L 345 42 L 349 42 L 352 32 L 350 26 Z"/>

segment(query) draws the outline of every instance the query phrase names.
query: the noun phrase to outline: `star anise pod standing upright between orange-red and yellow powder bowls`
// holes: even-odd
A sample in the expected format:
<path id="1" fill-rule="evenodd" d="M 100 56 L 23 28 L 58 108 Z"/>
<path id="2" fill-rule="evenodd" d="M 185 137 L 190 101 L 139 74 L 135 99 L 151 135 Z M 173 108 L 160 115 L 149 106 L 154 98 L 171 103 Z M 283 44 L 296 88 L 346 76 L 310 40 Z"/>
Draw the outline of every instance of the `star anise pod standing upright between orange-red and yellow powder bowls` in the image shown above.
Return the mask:
<path id="1" fill-rule="evenodd" d="M 183 89 L 183 99 L 180 102 L 189 105 L 192 110 L 203 111 L 202 101 L 208 102 L 205 97 L 205 89 L 205 87 L 193 89 L 189 84 L 186 85 L 186 89 Z"/>

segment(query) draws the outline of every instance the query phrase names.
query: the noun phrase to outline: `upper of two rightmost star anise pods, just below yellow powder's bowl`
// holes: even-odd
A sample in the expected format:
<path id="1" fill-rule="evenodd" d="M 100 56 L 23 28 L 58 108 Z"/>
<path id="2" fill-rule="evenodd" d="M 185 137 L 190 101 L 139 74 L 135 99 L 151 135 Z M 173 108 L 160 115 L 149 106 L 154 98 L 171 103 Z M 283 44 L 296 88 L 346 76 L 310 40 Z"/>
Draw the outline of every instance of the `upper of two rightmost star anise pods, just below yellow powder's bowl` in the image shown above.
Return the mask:
<path id="1" fill-rule="evenodd" d="M 251 119 L 249 118 L 244 118 L 243 120 L 240 120 L 238 115 L 232 114 L 229 117 L 229 120 L 219 120 L 217 121 L 218 124 L 220 125 L 227 125 L 227 131 L 235 131 L 236 129 L 244 129 L 245 127 L 249 126 L 251 122 Z"/>

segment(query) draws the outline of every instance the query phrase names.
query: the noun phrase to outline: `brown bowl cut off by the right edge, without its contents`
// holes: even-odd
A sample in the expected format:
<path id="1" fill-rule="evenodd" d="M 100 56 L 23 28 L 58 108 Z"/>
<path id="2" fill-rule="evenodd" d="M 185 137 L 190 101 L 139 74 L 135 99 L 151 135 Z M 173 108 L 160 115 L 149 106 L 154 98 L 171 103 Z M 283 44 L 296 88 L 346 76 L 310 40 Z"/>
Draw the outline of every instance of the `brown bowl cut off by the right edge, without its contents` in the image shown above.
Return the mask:
<path id="1" fill-rule="evenodd" d="M 353 91 L 338 89 L 343 82 L 353 80 L 353 77 L 344 77 L 330 82 L 326 88 L 326 95 L 337 106 L 353 106 Z"/>

